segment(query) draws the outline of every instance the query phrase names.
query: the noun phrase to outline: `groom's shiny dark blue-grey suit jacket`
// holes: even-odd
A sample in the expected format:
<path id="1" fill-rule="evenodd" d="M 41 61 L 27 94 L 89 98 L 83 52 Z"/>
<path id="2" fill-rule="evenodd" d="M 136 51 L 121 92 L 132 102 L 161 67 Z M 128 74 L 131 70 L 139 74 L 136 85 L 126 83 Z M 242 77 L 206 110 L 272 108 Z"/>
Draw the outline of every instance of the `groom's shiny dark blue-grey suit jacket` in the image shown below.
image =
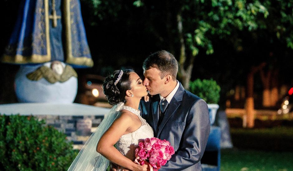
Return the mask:
<path id="1" fill-rule="evenodd" d="M 159 103 L 159 95 L 154 95 L 148 102 L 141 100 L 140 109 L 142 118 L 151 125 L 154 135 L 161 140 L 168 140 L 175 150 L 175 154 L 160 171 L 202 170 L 200 159 L 210 131 L 206 102 L 185 90 L 180 83 L 158 125 Z"/>

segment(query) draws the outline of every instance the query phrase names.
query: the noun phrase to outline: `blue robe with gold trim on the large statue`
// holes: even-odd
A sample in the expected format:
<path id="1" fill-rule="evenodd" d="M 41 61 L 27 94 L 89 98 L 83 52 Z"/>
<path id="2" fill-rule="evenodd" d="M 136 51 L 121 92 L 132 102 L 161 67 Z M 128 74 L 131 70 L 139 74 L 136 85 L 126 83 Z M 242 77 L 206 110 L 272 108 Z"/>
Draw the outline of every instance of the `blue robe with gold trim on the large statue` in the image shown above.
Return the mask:
<path id="1" fill-rule="evenodd" d="M 1 61 L 37 64 L 54 60 L 73 67 L 93 66 L 79 0 L 23 0 Z"/>

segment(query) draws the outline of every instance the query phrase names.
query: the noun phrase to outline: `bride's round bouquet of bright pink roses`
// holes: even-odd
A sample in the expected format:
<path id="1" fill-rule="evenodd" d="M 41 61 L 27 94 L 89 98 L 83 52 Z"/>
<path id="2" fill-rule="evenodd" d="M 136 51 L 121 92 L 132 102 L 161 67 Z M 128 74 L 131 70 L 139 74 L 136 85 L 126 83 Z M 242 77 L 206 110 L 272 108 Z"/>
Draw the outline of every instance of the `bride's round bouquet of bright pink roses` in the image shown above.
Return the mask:
<path id="1" fill-rule="evenodd" d="M 135 150 L 135 163 L 140 165 L 149 164 L 152 170 L 157 171 L 171 159 L 171 155 L 174 153 L 174 148 L 169 141 L 155 137 L 146 138 L 138 143 L 138 147 Z"/>

